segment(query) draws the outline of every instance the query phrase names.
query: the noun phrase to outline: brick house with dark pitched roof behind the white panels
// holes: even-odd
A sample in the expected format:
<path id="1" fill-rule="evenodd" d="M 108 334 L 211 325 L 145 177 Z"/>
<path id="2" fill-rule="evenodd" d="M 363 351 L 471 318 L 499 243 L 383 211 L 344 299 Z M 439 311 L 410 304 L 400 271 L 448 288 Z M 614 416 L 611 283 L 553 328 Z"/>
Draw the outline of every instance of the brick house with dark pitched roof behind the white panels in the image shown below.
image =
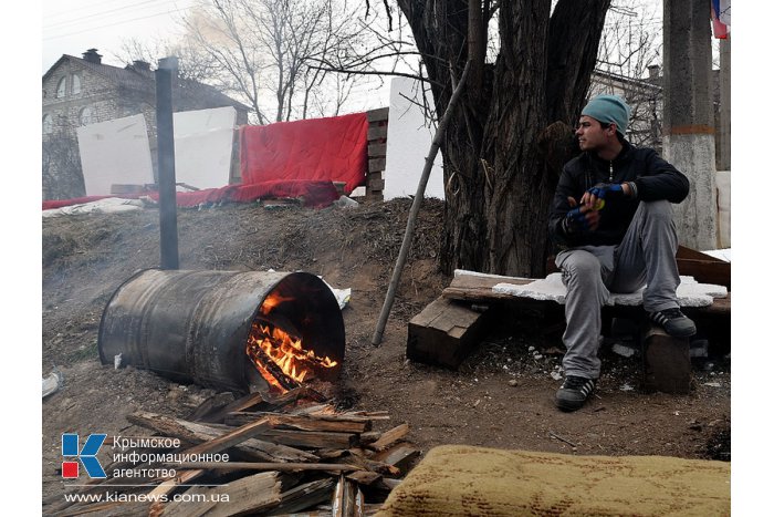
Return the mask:
<path id="1" fill-rule="evenodd" d="M 212 86 L 178 77 L 172 86 L 175 112 L 233 106 L 237 124 L 248 123 L 249 107 Z M 83 174 L 76 128 L 142 114 L 156 164 L 156 79 L 150 64 L 134 61 L 125 68 L 102 63 L 96 49 L 82 58 L 63 54 L 43 74 L 43 199 L 83 196 Z"/>

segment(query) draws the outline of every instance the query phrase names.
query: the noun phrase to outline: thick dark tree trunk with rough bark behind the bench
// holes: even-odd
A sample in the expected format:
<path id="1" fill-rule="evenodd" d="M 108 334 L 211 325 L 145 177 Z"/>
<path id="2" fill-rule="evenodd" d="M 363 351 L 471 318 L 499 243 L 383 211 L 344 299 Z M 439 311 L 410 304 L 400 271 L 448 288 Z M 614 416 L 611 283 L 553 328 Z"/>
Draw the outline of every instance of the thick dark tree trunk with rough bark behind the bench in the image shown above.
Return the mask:
<path id="1" fill-rule="evenodd" d="M 435 82 L 436 111 L 443 112 L 451 80 L 440 63 L 459 71 L 469 53 L 472 61 L 483 59 L 480 31 L 488 25 L 489 2 L 398 3 Z M 559 0 L 552 14 L 550 0 L 500 2 L 498 59 L 479 63 L 481 84 L 471 83 L 441 147 L 446 272 L 545 273 L 550 203 L 561 166 L 571 157 L 568 145 L 546 141 L 572 134 L 568 126 L 585 100 L 609 4 Z"/>

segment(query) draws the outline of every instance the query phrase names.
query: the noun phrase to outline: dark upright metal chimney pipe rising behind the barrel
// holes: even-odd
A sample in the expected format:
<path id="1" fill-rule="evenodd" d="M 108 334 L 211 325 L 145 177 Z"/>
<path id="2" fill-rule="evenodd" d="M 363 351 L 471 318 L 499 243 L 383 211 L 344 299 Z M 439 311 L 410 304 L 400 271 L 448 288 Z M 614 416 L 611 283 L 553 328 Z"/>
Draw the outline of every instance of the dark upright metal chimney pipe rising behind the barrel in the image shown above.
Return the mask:
<path id="1" fill-rule="evenodd" d="M 172 79 L 177 58 L 164 58 L 156 70 L 156 142 L 158 152 L 158 205 L 161 229 L 161 269 L 178 269 L 177 197 L 175 194 L 175 128 Z"/>

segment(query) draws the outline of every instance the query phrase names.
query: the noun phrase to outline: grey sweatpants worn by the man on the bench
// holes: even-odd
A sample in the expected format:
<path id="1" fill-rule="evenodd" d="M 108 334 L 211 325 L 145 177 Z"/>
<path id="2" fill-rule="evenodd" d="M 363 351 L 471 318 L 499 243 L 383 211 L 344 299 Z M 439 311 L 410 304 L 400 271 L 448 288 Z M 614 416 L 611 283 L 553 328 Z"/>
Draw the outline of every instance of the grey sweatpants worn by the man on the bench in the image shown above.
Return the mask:
<path id="1" fill-rule="evenodd" d="M 556 256 L 567 288 L 565 375 L 599 378 L 602 306 L 610 292 L 634 292 L 647 285 L 642 293 L 646 311 L 679 307 L 677 248 L 670 203 L 641 201 L 620 245 L 583 246 Z"/>

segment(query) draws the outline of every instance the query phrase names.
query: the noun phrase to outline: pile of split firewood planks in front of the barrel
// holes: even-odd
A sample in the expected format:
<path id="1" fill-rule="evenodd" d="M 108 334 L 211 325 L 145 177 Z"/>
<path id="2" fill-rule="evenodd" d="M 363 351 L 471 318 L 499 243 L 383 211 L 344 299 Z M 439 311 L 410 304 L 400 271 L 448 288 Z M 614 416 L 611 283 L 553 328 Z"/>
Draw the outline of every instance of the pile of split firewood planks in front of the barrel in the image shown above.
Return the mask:
<path id="1" fill-rule="evenodd" d="M 216 395 L 185 420 L 143 411 L 127 420 L 148 430 L 146 438 L 180 444 L 153 449 L 155 458 L 195 461 L 135 463 L 126 461 L 128 455 L 149 457 L 142 454 L 147 448 L 122 451 L 123 463 L 105 466 L 107 478 L 79 490 L 109 493 L 108 500 L 73 504 L 52 497 L 43 502 L 44 515 L 369 516 L 420 455 L 405 440 L 407 424 L 389 428 L 386 412 L 338 412 L 303 386 L 281 396 L 253 393 L 230 402 Z M 196 461 L 201 457 L 217 461 Z M 114 474 L 126 468 L 139 476 Z M 174 475 L 143 477 L 164 469 Z"/>

